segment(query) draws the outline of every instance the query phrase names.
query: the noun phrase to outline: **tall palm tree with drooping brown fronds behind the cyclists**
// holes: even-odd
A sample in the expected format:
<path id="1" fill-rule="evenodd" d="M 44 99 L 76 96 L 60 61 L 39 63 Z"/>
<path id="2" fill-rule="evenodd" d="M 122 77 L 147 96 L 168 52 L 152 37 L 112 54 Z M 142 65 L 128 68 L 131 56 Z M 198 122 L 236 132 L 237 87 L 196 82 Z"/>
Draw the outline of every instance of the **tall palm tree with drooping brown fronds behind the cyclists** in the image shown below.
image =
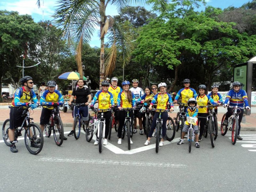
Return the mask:
<path id="1" fill-rule="evenodd" d="M 37 0 L 37 5 L 40 7 L 42 0 Z M 107 34 L 109 28 L 112 28 L 114 20 L 110 15 L 106 15 L 106 7 L 108 4 L 116 5 L 118 10 L 124 8 L 129 3 L 154 3 L 153 8 L 159 8 L 165 10 L 168 4 L 168 0 L 60 0 L 55 11 L 54 22 L 62 29 L 63 36 L 68 39 L 69 43 L 76 43 L 76 62 L 77 68 L 82 75 L 82 45 L 83 43 L 89 43 L 91 36 L 95 31 L 95 27 L 100 26 L 100 88 L 101 82 L 105 77 L 105 65 L 104 65 L 104 37 Z M 131 36 L 127 38 L 122 26 L 117 26 L 116 30 L 119 31 L 118 46 L 123 53 L 122 63 L 127 64 L 130 60 L 129 52 L 132 50 Z M 114 32 L 114 30 L 111 30 Z M 115 37 L 115 35 L 113 36 Z M 113 41 L 113 45 L 108 55 L 108 65 L 106 73 L 109 75 L 113 72 L 116 63 L 116 43 Z"/>

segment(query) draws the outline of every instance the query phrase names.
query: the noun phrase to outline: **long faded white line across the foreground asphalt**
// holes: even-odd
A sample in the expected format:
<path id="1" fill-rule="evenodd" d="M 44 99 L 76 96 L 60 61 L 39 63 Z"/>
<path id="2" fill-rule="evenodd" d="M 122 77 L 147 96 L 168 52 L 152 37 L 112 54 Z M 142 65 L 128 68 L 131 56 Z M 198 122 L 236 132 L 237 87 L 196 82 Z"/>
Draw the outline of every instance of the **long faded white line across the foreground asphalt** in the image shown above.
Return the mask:
<path id="1" fill-rule="evenodd" d="M 159 162 L 146 162 L 146 161 L 115 161 L 115 160 L 102 160 L 102 159 L 82 159 L 82 158 L 58 158 L 58 157 L 43 157 L 37 161 L 48 162 L 63 162 L 63 163 L 86 163 L 86 164 L 109 164 L 109 165 L 132 165 L 132 166 L 146 166 L 146 167 L 178 167 L 184 168 L 184 164 L 171 164 Z"/>

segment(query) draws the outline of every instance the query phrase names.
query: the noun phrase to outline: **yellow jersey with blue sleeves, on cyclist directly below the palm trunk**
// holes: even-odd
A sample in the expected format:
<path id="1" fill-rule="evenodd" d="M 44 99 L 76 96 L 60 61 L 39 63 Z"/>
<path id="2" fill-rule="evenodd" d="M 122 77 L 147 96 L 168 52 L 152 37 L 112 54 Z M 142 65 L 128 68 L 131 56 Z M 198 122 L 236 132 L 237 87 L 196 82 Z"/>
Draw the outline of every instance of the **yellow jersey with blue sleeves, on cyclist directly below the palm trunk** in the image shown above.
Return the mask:
<path id="1" fill-rule="evenodd" d="M 92 100 L 92 106 L 96 102 L 99 101 L 99 109 L 110 109 L 111 106 L 114 106 L 114 97 L 111 92 L 104 92 L 103 90 L 98 91 Z"/>

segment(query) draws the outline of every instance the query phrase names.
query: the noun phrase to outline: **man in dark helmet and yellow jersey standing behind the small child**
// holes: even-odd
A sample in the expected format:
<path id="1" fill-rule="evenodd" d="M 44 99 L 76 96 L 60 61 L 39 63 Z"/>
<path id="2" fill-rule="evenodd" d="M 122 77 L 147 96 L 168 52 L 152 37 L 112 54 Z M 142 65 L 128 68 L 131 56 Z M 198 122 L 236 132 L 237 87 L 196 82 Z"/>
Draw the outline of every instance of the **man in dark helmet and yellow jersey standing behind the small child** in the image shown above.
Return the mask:
<path id="1" fill-rule="evenodd" d="M 184 88 L 182 88 L 182 89 L 180 89 L 180 91 L 178 91 L 178 93 L 176 94 L 176 96 L 174 98 L 173 103 L 177 103 L 179 98 L 181 98 L 182 103 L 188 103 L 188 100 L 190 98 L 194 98 L 197 96 L 196 90 L 189 87 L 189 85 L 190 85 L 189 79 L 184 79 L 183 84 L 184 84 Z M 188 107 L 188 105 L 186 104 L 184 109 L 186 110 L 187 107 Z"/>

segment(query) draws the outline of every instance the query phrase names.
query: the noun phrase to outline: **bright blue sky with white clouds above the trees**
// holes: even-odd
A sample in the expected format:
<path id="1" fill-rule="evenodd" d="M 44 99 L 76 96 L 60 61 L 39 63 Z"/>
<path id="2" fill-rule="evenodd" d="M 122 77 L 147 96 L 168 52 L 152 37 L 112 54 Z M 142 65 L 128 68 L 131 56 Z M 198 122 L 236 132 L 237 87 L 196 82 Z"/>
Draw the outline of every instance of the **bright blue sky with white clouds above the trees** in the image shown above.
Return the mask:
<path id="1" fill-rule="evenodd" d="M 220 7 L 225 9 L 229 6 L 240 7 L 245 3 L 251 2 L 252 0 L 206 0 L 206 6 Z M 32 15 L 35 22 L 40 20 L 52 20 L 51 15 L 54 14 L 54 10 L 58 5 L 58 0 L 44 0 L 44 4 L 38 9 L 36 5 L 37 0 L 0 0 L 0 10 L 17 11 L 20 14 Z M 171 2 L 171 1 L 170 1 Z M 146 9 L 150 10 L 150 5 L 138 4 L 145 6 Z M 133 6 L 137 6 L 134 5 Z M 118 15 L 118 11 L 115 6 L 109 4 L 106 10 L 106 15 Z M 100 37 L 98 36 L 99 28 L 96 29 L 95 34 L 92 36 L 90 45 L 92 47 L 100 47 Z"/>

